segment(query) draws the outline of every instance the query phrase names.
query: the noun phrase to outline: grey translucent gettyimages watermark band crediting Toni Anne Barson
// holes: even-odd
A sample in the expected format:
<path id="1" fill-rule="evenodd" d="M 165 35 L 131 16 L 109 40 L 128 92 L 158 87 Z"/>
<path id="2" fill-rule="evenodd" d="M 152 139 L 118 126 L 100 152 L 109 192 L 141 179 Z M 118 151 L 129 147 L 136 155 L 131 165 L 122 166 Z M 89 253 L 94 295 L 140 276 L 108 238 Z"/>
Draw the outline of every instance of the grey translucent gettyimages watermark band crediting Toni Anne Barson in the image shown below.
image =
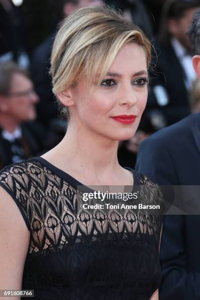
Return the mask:
<path id="1" fill-rule="evenodd" d="M 135 214 L 200 215 L 200 186 L 77 186 L 80 209 Z"/>

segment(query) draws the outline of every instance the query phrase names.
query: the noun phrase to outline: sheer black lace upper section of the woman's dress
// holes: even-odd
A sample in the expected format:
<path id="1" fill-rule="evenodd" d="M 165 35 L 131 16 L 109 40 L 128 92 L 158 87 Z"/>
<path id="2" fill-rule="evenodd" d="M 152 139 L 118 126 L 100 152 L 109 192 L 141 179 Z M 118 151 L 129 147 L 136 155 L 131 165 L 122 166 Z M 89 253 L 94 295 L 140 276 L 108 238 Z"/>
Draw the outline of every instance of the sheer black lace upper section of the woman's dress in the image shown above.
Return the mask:
<path id="1" fill-rule="evenodd" d="M 158 186 L 142 175 L 143 204 L 160 204 Z M 76 187 L 37 160 L 11 165 L 0 174 L 0 185 L 13 195 L 31 234 L 29 254 L 47 254 L 83 241 L 142 240 L 145 235 L 159 246 L 162 216 L 136 215 L 132 210 L 83 210 Z"/>

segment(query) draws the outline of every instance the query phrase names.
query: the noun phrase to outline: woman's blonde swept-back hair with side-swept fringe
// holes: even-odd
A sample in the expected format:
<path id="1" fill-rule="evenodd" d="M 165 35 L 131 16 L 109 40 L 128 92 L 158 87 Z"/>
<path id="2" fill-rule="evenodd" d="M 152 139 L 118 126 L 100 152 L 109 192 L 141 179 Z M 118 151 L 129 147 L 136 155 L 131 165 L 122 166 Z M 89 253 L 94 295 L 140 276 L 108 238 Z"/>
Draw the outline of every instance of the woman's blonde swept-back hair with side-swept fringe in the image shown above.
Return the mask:
<path id="1" fill-rule="evenodd" d="M 54 40 L 50 69 L 54 95 L 75 86 L 85 75 L 88 87 L 94 77 L 98 78 L 98 86 L 127 43 L 136 43 L 144 49 L 149 68 L 149 39 L 137 25 L 124 20 L 119 11 L 108 6 L 75 11 L 64 19 Z M 66 108 L 65 112 L 69 118 Z"/>

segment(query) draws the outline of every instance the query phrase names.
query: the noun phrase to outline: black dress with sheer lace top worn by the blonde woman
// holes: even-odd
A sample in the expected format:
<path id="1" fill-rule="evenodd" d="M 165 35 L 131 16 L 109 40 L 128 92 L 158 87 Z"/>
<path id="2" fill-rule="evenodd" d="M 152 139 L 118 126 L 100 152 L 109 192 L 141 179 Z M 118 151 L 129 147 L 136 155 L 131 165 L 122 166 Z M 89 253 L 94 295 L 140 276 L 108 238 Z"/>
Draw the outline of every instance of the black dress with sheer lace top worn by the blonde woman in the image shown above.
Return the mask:
<path id="1" fill-rule="evenodd" d="M 141 202 L 161 203 L 157 185 L 132 172 Z M 3 169 L 0 185 L 30 231 L 22 288 L 34 299 L 149 300 L 159 287 L 162 216 L 83 210 L 81 183 L 41 157 Z"/>

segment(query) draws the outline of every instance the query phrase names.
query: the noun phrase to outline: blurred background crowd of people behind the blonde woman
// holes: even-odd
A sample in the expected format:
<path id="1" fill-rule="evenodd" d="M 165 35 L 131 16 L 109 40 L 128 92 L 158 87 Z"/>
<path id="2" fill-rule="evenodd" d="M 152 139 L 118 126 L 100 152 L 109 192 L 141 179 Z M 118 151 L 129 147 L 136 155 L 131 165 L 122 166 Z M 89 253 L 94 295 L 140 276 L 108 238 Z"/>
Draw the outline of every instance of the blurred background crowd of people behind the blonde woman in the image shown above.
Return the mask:
<path id="1" fill-rule="evenodd" d="M 51 91 L 50 52 L 62 18 L 102 0 L 0 0 L 0 169 L 38 156 L 63 138 Z M 153 132 L 200 111 L 200 81 L 186 37 L 200 0 L 107 0 L 139 25 L 153 45 L 149 96 L 135 136 L 120 143 L 119 162 L 135 165 Z M 17 6 L 17 4 L 19 6 Z"/>

